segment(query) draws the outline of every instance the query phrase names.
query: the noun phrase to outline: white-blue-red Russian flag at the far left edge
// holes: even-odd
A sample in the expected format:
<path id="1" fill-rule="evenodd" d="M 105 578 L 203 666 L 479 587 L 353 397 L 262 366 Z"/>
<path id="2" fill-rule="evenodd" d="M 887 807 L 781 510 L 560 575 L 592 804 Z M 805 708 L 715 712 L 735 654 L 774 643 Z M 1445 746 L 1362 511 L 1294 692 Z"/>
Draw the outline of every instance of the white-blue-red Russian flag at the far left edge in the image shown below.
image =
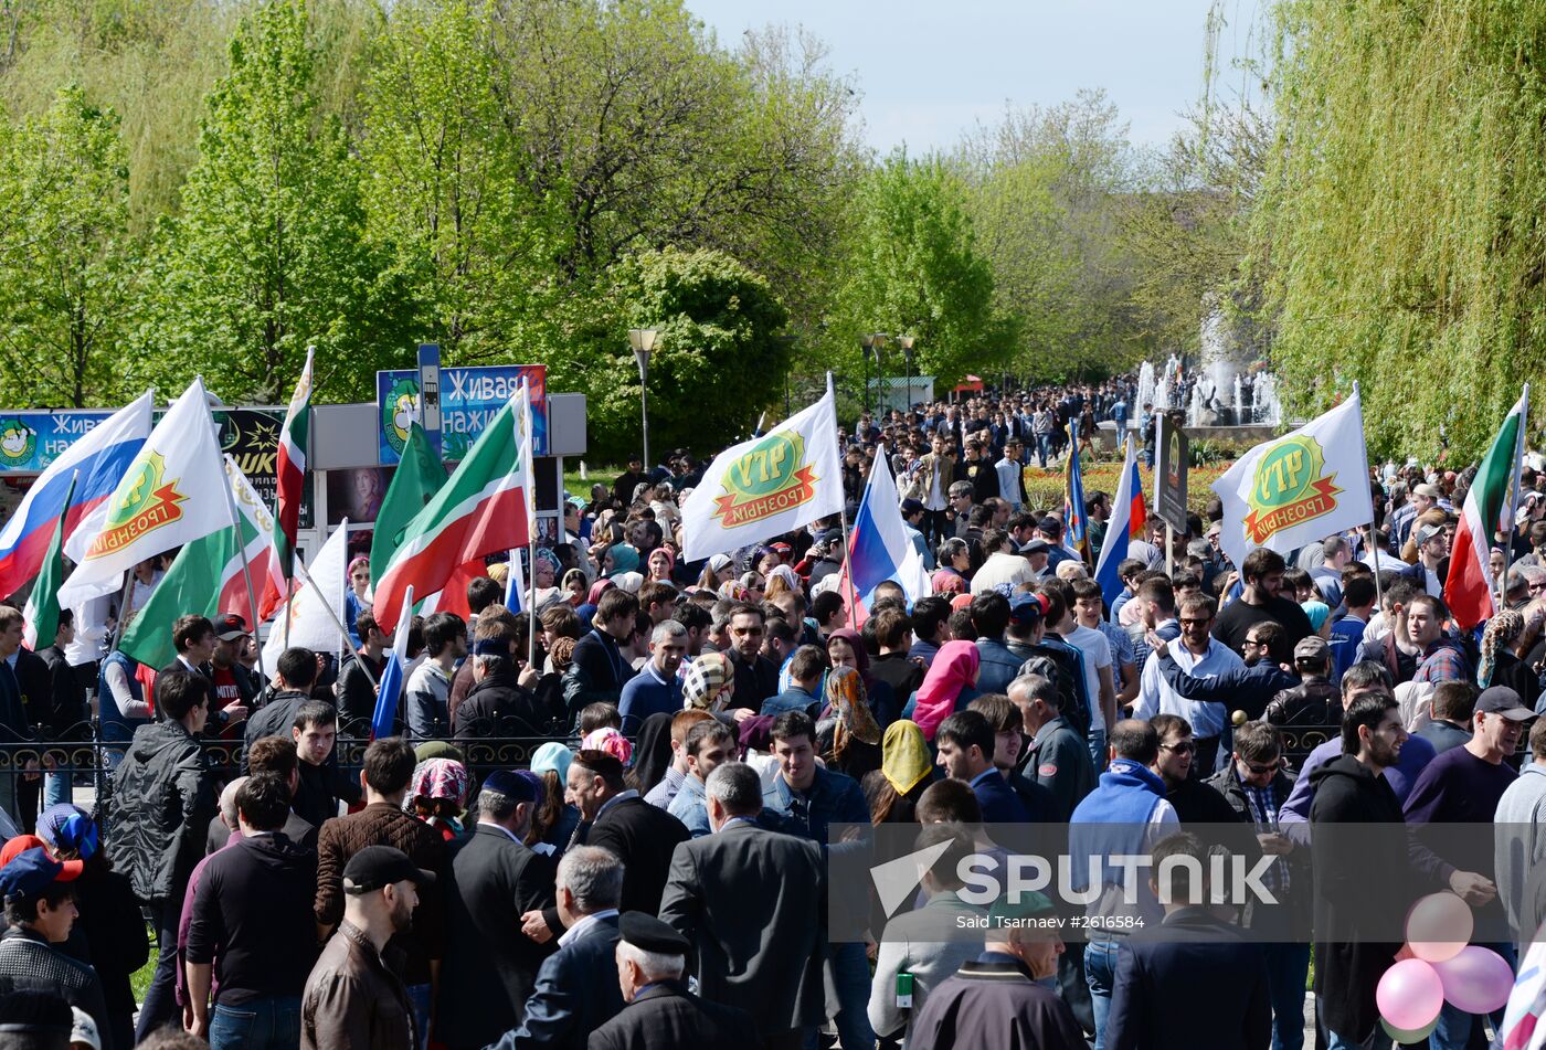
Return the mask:
<path id="1" fill-rule="evenodd" d="M 80 520 L 113 495 L 150 438 L 152 407 L 147 390 L 70 445 L 32 482 L 22 506 L 0 529 L 0 598 L 11 597 L 39 574 L 60 516 L 68 540 Z M 79 478 L 73 495 L 71 478 Z"/>

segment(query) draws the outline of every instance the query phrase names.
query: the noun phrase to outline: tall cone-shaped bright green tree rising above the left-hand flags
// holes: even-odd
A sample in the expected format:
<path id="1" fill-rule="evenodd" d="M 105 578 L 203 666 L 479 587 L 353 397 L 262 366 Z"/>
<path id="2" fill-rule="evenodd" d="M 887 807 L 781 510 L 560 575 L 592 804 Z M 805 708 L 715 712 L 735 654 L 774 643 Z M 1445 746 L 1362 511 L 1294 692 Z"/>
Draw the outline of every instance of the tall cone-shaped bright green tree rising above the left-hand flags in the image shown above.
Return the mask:
<path id="1" fill-rule="evenodd" d="M 173 385 L 204 371 L 227 401 L 281 402 L 315 343 L 323 396 L 363 397 L 410 342 L 411 302 L 365 243 L 359 165 L 317 113 L 306 6 L 243 20 L 210 93 L 144 363 Z"/>

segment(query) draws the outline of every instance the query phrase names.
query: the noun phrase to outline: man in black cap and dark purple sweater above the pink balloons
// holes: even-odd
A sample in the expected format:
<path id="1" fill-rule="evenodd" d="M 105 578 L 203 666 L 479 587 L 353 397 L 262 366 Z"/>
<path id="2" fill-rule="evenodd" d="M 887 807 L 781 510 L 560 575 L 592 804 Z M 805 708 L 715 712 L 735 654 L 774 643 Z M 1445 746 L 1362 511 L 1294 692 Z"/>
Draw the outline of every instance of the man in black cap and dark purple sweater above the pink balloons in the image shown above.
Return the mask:
<path id="1" fill-rule="evenodd" d="M 1429 762 L 1418 776 L 1418 782 L 1411 786 L 1411 793 L 1407 795 L 1404 806 L 1407 823 L 1415 826 L 1492 824 L 1498 812 L 1498 801 L 1518 778 L 1506 759 L 1518 748 L 1520 736 L 1532 718 L 1535 718 L 1535 711 L 1524 707 L 1520 694 L 1507 685 L 1483 690 L 1472 713 L 1470 739 L 1461 747 L 1442 752 Z M 1446 857 L 1446 840 L 1429 837 L 1421 827 L 1418 837 L 1424 838 L 1433 852 L 1450 864 L 1475 869 L 1487 880 L 1493 877 L 1493 855 L 1467 852 L 1466 857 Z M 1450 854 L 1453 854 L 1453 844 Z M 1493 895 L 1497 891 L 1492 881 L 1486 881 L 1486 889 L 1489 900 L 1478 909 L 1478 929 L 1503 929 L 1506 922 L 1503 906 Z M 1487 946 L 1504 959 L 1514 960 L 1512 943 Z M 1473 1022 L 1480 1022 L 1480 1018 L 1446 1004 L 1439 1013 L 1438 1028 L 1430 1036 L 1430 1045 L 1435 1050 L 1464 1047 Z M 1498 1010 L 1493 1014 L 1493 1028 L 1498 1028 L 1501 1022 L 1503 1011 Z"/>

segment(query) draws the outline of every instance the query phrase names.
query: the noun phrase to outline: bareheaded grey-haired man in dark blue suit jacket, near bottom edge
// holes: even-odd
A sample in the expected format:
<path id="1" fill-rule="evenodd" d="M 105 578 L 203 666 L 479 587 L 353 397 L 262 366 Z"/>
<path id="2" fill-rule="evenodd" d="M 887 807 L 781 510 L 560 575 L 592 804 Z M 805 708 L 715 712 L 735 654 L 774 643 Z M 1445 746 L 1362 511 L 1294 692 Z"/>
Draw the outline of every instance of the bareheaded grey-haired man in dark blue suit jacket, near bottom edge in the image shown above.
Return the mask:
<path id="1" fill-rule="evenodd" d="M 598 846 L 574 846 L 558 861 L 557 881 L 567 929 L 536 971 L 521 1027 L 504 1033 L 493 1050 L 583 1050 L 591 1033 L 623 1008 L 615 956 L 623 863 Z"/>

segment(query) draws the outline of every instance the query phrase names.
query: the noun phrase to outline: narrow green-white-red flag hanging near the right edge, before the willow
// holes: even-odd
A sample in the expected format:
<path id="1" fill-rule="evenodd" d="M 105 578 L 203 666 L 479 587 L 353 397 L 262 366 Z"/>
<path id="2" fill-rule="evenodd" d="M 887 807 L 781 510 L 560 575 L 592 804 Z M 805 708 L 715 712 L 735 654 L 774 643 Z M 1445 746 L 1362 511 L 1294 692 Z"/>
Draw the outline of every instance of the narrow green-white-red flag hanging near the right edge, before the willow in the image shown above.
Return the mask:
<path id="1" fill-rule="evenodd" d="M 1444 605 L 1450 615 L 1467 631 L 1486 620 L 1497 609 L 1497 580 L 1492 578 L 1489 557 L 1492 535 L 1503 523 L 1509 507 L 1509 481 L 1518 476 L 1520 458 L 1524 455 L 1524 411 L 1531 388 L 1509 410 L 1498 430 L 1492 448 L 1487 450 L 1470 492 L 1466 493 L 1466 509 L 1455 529 L 1455 544 L 1450 547 L 1450 572 L 1444 581 Z"/>

